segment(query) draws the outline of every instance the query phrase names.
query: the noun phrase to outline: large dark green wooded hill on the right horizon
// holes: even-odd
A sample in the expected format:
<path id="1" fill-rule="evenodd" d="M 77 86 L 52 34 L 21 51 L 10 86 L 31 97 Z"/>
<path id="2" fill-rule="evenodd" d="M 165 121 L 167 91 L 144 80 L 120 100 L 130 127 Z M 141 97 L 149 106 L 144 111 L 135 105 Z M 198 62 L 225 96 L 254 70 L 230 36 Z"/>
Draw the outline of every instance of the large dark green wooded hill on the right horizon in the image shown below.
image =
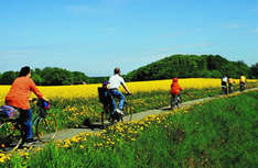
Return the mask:
<path id="1" fill-rule="evenodd" d="M 229 61 L 219 55 L 172 55 L 127 74 L 129 81 L 179 78 L 222 78 L 223 76 L 258 79 L 258 64 Z"/>

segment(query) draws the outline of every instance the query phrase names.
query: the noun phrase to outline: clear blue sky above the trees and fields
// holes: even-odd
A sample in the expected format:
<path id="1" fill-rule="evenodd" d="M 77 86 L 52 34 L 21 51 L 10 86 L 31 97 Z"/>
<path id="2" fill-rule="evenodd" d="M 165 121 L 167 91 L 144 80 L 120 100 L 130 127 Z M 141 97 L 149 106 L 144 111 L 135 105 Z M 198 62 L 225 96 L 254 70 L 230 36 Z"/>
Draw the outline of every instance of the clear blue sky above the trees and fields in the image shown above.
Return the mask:
<path id="1" fill-rule="evenodd" d="M 258 0 L 0 0 L 0 72 L 107 76 L 173 54 L 258 63 Z"/>

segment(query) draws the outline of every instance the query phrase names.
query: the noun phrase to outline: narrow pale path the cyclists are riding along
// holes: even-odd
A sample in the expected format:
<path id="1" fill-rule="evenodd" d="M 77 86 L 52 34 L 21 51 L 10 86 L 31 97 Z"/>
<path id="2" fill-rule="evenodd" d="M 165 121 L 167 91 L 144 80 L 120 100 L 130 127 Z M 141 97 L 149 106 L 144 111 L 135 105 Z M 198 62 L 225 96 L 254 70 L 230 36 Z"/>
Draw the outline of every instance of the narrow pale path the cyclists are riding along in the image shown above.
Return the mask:
<path id="1" fill-rule="evenodd" d="M 248 92 L 248 91 L 258 91 L 258 88 L 246 89 L 243 92 Z M 233 94 L 236 94 L 236 93 L 239 93 L 239 91 L 236 91 Z M 185 107 L 191 107 L 191 105 L 194 105 L 194 104 L 197 104 L 197 103 L 201 103 L 201 102 L 207 102 L 207 101 L 211 101 L 211 100 L 214 100 L 214 99 L 219 99 L 219 98 L 223 98 L 223 97 L 227 97 L 227 96 L 214 96 L 214 97 L 207 97 L 207 98 L 203 98 L 203 99 L 186 101 L 186 102 L 181 103 L 179 109 L 185 108 Z M 171 111 L 170 107 L 164 107 L 164 108 L 157 109 L 157 110 L 148 110 L 148 111 L 135 113 L 132 115 L 132 121 L 138 121 L 138 120 L 143 119 L 147 115 L 151 115 L 151 114 L 155 115 L 155 114 L 160 114 L 160 113 L 168 112 L 168 111 Z M 127 116 L 125 116 L 125 117 L 127 117 Z M 60 131 L 57 133 L 55 139 L 64 141 L 64 139 L 67 139 L 67 138 L 72 138 L 73 136 L 78 135 L 79 133 L 85 133 L 85 132 L 96 133 L 96 132 L 100 132 L 100 131 L 103 131 L 101 123 L 93 123 L 89 126 L 82 125 L 78 128 L 62 130 L 62 131 Z M 42 143 L 36 143 L 33 146 L 34 147 L 40 147 L 40 146 L 43 146 L 43 145 L 44 144 L 42 144 Z"/>

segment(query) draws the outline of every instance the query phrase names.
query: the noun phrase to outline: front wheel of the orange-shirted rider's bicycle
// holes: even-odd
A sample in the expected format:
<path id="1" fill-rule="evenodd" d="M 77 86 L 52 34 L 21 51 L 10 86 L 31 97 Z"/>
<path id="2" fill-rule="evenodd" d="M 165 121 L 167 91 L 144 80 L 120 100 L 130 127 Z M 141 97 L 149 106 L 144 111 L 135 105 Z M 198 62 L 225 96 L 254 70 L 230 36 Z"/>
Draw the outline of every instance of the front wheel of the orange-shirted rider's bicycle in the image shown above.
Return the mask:
<path id="1" fill-rule="evenodd" d="M 43 143 L 53 141 L 57 132 L 57 121 L 54 114 L 46 114 L 36 123 L 36 136 Z"/>

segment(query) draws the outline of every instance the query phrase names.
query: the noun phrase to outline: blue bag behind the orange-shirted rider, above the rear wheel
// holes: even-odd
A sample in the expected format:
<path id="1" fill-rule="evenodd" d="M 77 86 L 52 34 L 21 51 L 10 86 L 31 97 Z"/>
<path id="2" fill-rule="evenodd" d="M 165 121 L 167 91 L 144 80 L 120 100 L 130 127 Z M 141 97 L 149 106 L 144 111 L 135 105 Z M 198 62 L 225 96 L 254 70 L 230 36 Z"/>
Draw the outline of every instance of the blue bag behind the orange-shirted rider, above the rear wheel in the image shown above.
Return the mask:
<path id="1" fill-rule="evenodd" d="M 2 105 L 0 108 L 0 117 L 1 119 L 18 119 L 20 112 L 11 105 Z"/>

